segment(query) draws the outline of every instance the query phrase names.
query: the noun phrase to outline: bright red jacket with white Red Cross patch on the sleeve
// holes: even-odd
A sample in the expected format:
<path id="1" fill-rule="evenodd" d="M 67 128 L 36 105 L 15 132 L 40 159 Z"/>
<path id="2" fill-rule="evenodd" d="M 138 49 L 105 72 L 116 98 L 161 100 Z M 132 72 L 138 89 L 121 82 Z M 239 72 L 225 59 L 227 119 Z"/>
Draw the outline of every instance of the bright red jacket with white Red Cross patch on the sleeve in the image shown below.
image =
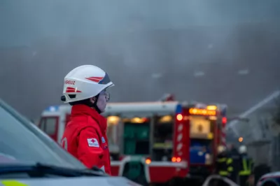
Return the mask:
<path id="1" fill-rule="evenodd" d="M 73 106 L 60 144 L 89 169 L 97 166 L 111 174 L 106 128 L 106 118 L 96 110 L 85 105 Z"/>

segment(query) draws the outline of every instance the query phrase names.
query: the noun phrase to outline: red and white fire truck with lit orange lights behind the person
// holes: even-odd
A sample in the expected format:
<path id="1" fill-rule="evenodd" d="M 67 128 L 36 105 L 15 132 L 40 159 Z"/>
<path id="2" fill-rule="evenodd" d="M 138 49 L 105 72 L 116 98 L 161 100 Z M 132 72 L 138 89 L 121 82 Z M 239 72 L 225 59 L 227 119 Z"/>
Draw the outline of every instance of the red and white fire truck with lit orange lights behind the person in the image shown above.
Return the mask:
<path id="1" fill-rule="evenodd" d="M 142 185 L 203 181 L 214 171 L 218 145 L 225 145 L 226 109 L 179 101 L 109 103 L 103 115 L 113 176 Z M 38 127 L 59 142 L 70 111 L 71 106 L 50 106 Z"/>

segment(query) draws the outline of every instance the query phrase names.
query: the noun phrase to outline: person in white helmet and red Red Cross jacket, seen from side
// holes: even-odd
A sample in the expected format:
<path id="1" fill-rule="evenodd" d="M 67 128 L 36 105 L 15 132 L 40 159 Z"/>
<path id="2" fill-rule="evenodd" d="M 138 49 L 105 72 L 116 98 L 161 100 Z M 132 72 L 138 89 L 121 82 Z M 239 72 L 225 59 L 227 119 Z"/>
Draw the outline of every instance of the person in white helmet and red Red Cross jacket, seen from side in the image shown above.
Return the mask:
<path id="1" fill-rule="evenodd" d="M 78 66 L 65 76 L 62 101 L 72 108 L 60 143 L 89 169 L 97 166 L 109 174 L 107 122 L 100 113 L 109 101 L 106 89 L 112 86 L 108 74 L 93 65 Z"/>

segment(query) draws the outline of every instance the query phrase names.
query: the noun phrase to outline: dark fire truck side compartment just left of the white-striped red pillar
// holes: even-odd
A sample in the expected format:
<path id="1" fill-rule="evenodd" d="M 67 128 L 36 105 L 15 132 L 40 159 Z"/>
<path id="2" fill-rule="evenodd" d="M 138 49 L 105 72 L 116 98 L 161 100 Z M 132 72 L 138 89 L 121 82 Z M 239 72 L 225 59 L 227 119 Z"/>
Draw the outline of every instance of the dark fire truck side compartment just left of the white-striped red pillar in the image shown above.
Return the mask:
<path id="1" fill-rule="evenodd" d="M 173 139 L 174 118 L 171 115 L 155 117 L 154 143 L 167 143 Z"/>

